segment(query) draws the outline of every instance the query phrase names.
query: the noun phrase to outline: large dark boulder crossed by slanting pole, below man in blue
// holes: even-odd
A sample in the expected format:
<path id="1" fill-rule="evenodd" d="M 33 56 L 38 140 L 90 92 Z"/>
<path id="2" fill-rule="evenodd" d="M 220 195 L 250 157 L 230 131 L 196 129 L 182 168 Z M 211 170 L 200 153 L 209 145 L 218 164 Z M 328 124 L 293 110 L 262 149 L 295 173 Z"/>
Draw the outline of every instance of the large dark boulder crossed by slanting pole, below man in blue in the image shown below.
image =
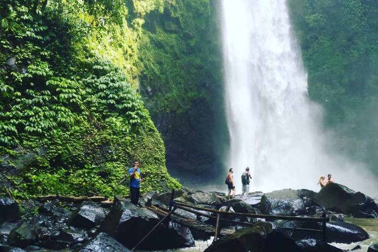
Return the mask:
<path id="1" fill-rule="evenodd" d="M 158 216 L 146 208 L 139 208 L 130 202 L 117 202 L 98 231 L 113 236 L 132 249 L 159 221 Z M 191 246 L 194 246 L 194 239 L 189 229 L 167 222 L 159 225 L 138 249 L 162 250 Z"/>

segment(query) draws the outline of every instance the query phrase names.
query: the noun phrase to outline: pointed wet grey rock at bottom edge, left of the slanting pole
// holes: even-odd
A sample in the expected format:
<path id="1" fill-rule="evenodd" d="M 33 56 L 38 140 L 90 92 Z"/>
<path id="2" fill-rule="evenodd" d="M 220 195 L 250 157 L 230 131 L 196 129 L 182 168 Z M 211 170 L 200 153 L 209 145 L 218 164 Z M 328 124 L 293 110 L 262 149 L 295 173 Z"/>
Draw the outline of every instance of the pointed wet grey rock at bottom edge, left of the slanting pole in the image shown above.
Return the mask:
<path id="1" fill-rule="evenodd" d="M 88 244 L 76 249 L 75 252 L 130 252 L 130 250 L 109 235 L 99 233 Z"/>

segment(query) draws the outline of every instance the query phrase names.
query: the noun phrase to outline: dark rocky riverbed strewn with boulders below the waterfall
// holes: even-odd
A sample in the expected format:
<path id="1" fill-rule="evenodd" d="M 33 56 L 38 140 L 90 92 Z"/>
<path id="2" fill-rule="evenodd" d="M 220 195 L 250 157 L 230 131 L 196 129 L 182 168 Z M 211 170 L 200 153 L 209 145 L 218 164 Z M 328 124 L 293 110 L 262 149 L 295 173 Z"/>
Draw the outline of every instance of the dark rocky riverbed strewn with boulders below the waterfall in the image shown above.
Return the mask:
<path id="1" fill-rule="evenodd" d="M 22 251 L 113 251 L 132 250 L 168 212 L 171 192 L 151 191 L 135 206 L 117 195 L 93 202 L 83 198 L 70 202 L 55 195 L 15 201 L 0 198 L 0 252 Z M 211 210 L 291 217 L 330 218 L 326 223 L 326 243 L 321 222 L 270 220 L 253 216 L 221 216 L 219 239 L 205 251 L 343 251 L 332 244 L 351 244 L 369 239 L 369 234 L 344 218 L 377 220 L 378 206 L 373 199 L 340 184 L 314 192 L 283 189 L 269 193 L 253 192 L 226 200 L 224 193 L 189 189 L 176 190 L 174 202 Z M 136 250 L 158 251 L 195 246 L 195 240 L 214 236 L 217 213 L 176 209 Z M 234 222 L 229 222 L 234 221 Z M 350 221 L 349 221 L 350 222 Z M 378 251 L 372 244 L 369 252 Z M 344 250 L 347 251 L 347 250 Z"/>

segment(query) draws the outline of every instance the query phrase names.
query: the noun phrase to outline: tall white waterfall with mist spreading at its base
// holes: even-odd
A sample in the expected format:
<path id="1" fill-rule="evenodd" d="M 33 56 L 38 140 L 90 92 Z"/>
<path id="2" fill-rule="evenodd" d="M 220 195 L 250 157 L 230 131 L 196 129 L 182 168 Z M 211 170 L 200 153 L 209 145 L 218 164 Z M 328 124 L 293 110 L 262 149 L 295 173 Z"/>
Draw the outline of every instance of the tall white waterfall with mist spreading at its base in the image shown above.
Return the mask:
<path id="1" fill-rule="evenodd" d="M 290 28 L 286 0 L 222 0 L 226 160 L 236 188 L 247 166 L 251 191 L 320 189 L 320 175 L 371 196 L 370 172 L 332 153 L 320 132 L 321 108 L 307 95 L 307 74 Z M 225 173 L 226 171 L 224 171 Z"/>

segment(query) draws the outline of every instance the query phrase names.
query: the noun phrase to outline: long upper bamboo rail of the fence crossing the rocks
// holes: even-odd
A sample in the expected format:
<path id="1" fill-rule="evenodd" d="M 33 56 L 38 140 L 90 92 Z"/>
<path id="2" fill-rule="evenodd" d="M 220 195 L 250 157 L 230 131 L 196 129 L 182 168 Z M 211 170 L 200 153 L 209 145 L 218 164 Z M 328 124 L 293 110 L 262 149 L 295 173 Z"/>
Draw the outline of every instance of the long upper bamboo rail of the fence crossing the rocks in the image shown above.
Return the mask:
<path id="1" fill-rule="evenodd" d="M 198 209 L 202 211 L 207 211 L 215 214 L 225 214 L 225 215 L 234 215 L 234 216 L 243 216 L 243 217 L 252 217 L 252 218 L 262 218 L 270 220 L 288 220 L 288 221 L 312 221 L 312 222 L 322 222 L 329 221 L 329 218 L 315 218 L 315 217 L 296 217 L 296 216 L 279 216 L 279 215 L 256 215 L 256 214 L 246 214 L 246 213 L 234 213 L 234 212 L 225 212 L 219 210 L 213 210 L 203 207 L 196 207 L 185 203 L 174 202 L 176 206 L 189 207 L 193 209 Z"/>

